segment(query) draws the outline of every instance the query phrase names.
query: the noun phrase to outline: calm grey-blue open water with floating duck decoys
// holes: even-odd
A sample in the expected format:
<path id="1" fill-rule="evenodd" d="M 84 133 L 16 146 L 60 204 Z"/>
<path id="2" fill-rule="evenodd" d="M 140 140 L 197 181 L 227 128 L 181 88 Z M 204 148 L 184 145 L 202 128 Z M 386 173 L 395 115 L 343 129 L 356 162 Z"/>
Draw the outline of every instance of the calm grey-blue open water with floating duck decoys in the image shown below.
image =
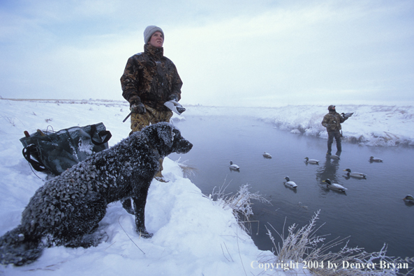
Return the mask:
<path id="1" fill-rule="evenodd" d="M 251 192 L 271 200 L 272 205 L 252 201 L 251 236 L 260 250 L 272 250 L 266 235 L 269 224 L 279 233 L 288 226 L 309 223 L 320 210 L 316 232 L 327 240 L 341 237 L 349 240 L 349 247 L 364 247 L 378 252 L 387 244 L 387 256 L 414 256 L 414 205 L 402 200 L 414 195 L 414 149 L 407 147 L 368 147 L 342 143 L 340 160 L 326 158 L 327 140 L 295 135 L 277 130 L 271 123 L 253 118 L 186 117 L 175 121 L 183 137 L 193 143 L 185 155 L 170 155 L 172 160 L 197 168 L 191 181 L 203 194 L 211 194 L 214 187 L 226 187 L 235 193 L 248 183 Z M 335 143 L 332 145 L 335 148 Z M 272 159 L 263 158 L 263 152 Z M 369 162 L 369 157 L 384 162 Z M 306 164 L 305 157 L 320 160 Z M 240 170 L 230 171 L 230 160 Z M 367 174 L 367 179 L 346 178 L 351 169 Z M 283 183 L 285 176 L 298 187 L 292 190 Z M 327 189 L 322 181 L 330 178 L 348 190 Z M 272 229 L 276 243 L 280 242 Z"/>

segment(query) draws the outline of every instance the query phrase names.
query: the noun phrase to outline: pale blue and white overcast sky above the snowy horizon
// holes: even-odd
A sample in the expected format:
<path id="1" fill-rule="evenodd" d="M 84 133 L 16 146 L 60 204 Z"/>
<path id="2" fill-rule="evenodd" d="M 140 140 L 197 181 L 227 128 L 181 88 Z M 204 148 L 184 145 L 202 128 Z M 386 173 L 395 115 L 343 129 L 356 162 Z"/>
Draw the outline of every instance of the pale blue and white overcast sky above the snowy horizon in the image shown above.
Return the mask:
<path id="1" fill-rule="evenodd" d="M 122 98 L 147 25 L 182 103 L 414 104 L 413 0 L 1 0 L 1 98 Z"/>

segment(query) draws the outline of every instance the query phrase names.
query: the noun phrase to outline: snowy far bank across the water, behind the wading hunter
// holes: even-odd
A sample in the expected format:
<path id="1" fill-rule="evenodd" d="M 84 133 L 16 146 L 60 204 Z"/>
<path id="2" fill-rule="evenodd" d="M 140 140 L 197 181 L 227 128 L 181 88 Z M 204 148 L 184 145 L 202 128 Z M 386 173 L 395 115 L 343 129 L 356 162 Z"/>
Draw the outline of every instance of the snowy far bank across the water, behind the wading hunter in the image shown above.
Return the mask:
<path id="1" fill-rule="evenodd" d="M 202 107 L 189 106 L 184 116 L 250 116 L 274 123 L 293 134 L 327 139 L 321 125 L 327 106 Z M 354 112 L 342 124 L 343 140 L 366 146 L 414 145 L 414 107 L 385 105 L 337 105 L 337 112 Z"/>

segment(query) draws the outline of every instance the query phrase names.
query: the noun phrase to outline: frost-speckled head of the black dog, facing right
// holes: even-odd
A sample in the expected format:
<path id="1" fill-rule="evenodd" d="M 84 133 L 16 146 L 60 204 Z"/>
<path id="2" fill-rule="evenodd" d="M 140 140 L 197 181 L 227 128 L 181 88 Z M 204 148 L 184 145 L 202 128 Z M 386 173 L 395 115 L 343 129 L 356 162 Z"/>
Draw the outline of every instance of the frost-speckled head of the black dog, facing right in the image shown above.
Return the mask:
<path id="1" fill-rule="evenodd" d="M 171 123 L 156 123 L 142 130 L 147 135 L 152 146 L 158 152 L 167 156 L 170 153 L 188 153 L 193 144 L 181 136 L 181 132 Z"/>

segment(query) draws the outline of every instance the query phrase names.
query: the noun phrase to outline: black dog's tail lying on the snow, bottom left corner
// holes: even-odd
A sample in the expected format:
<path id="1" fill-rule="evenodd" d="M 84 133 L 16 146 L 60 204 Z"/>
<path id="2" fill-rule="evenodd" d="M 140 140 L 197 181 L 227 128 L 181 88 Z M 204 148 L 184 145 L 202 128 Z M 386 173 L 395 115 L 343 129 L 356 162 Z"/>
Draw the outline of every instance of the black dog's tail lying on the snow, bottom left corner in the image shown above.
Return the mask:
<path id="1" fill-rule="evenodd" d="M 0 263 L 23 266 L 32 263 L 43 251 L 39 239 L 31 239 L 24 235 L 22 227 L 8 231 L 0 237 Z"/>

